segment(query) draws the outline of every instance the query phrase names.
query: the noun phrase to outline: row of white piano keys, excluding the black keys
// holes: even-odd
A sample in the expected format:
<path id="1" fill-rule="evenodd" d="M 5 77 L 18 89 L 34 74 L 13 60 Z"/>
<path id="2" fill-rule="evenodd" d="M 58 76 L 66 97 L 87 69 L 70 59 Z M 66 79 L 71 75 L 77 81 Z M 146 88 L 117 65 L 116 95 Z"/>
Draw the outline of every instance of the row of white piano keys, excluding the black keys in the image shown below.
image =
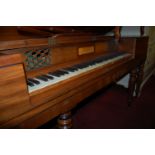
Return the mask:
<path id="1" fill-rule="evenodd" d="M 74 71 L 74 72 L 68 71 L 68 72 L 69 72 L 68 74 L 64 74 L 64 75 L 62 75 L 62 76 L 60 76 L 60 77 L 56 77 L 56 76 L 47 74 L 47 75 L 49 75 L 49 76 L 52 76 L 53 79 L 52 79 L 52 80 L 48 79 L 48 81 L 46 81 L 46 82 L 34 78 L 34 79 L 38 80 L 38 81 L 40 82 L 40 84 L 35 85 L 35 86 L 33 86 L 33 87 L 28 86 L 28 91 L 29 91 L 29 93 L 34 92 L 34 91 L 36 91 L 36 90 L 39 90 L 39 89 L 45 88 L 45 87 L 47 87 L 47 86 L 50 86 L 50 85 L 56 84 L 56 83 L 58 83 L 58 82 L 61 82 L 61 81 L 63 81 L 63 80 L 66 80 L 66 79 L 68 79 L 68 78 L 70 78 L 70 77 L 73 77 L 73 76 L 76 76 L 76 75 L 85 73 L 85 72 L 87 72 L 87 71 L 96 69 L 96 68 L 98 68 L 98 67 L 104 66 L 104 65 L 106 65 L 106 64 L 108 64 L 108 63 L 114 63 L 114 62 L 116 62 L 117 60 L 120 60 L 120 59 L 122 59 L 122 58 L 124 58 L 124 57 L 127 57 L 127 56 L 129 56 L 129 55 L 130 55 L 130 54 L 120 55 L 120 56 L 117 56 L 117 57 L 115 57 L 115 58 L 112 58 L 112 59 L 103 61 L 103 62 L 101 62 L 101 63 L 97 63 L 97 64 L 95 64 L 95 65 L 91 65 L 91 66 L 85 67 L 85 68 L 83 68 L 83 69 L 78 69 L 77 71 Z"/>

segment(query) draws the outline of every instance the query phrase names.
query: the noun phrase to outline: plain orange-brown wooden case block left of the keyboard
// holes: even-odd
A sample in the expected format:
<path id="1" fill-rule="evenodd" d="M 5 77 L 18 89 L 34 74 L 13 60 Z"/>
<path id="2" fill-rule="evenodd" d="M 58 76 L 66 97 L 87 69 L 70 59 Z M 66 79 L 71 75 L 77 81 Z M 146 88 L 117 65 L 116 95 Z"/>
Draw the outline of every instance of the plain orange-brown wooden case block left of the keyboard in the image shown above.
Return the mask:
<path id="1" fill-rule="evenodd" d="M 31 109 L 22 64 L 0 68 L 0 125 Z"/>

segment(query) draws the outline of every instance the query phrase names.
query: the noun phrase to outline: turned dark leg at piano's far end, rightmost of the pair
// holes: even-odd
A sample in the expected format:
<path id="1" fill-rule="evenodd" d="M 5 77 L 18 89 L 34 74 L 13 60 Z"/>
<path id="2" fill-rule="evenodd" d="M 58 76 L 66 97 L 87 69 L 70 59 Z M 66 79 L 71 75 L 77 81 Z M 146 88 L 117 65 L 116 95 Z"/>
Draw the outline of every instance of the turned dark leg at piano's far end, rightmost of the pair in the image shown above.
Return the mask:
<path id="1" fill-rule="evenodd" d="M 143 81 L 143 74 L 144 74 L 144 64 L 141 64 L 138 67 L 138 74 L 137 74 L 137 83 L 136 83 L 136 97 L 140 96 L 140 91 L 141 91 L 141 84 Z"/>

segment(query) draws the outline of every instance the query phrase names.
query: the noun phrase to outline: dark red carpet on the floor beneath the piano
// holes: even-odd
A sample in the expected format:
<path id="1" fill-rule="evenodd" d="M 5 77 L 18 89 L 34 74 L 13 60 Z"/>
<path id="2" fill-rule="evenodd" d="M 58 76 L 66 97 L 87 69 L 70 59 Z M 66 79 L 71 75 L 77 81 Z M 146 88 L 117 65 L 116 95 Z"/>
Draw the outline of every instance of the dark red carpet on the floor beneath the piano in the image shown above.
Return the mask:
<path id="1" fill-rule="evenodd" d="M 41 128 L 54 128 L 55 120 Z M 155 128 L 155 76 L 144 85 L 141 96 L 127 105 L 127 90 L 109 86 L 81 102 L 73 111 L 75 129 Z"/>

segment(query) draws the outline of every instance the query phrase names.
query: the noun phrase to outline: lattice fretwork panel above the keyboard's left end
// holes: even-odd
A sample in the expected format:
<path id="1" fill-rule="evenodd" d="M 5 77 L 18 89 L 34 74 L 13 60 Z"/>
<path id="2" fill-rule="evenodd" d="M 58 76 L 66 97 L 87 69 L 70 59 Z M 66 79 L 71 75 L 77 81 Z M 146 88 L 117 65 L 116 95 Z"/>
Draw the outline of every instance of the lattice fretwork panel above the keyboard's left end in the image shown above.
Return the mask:
<path id="1" fill-rule="evenodd" d="M 48 48 L 31 49 L 24 52 L 24 55 L 26 56 L 26 70 L 41 68 L 51 63 L 50 50 Z"/>

